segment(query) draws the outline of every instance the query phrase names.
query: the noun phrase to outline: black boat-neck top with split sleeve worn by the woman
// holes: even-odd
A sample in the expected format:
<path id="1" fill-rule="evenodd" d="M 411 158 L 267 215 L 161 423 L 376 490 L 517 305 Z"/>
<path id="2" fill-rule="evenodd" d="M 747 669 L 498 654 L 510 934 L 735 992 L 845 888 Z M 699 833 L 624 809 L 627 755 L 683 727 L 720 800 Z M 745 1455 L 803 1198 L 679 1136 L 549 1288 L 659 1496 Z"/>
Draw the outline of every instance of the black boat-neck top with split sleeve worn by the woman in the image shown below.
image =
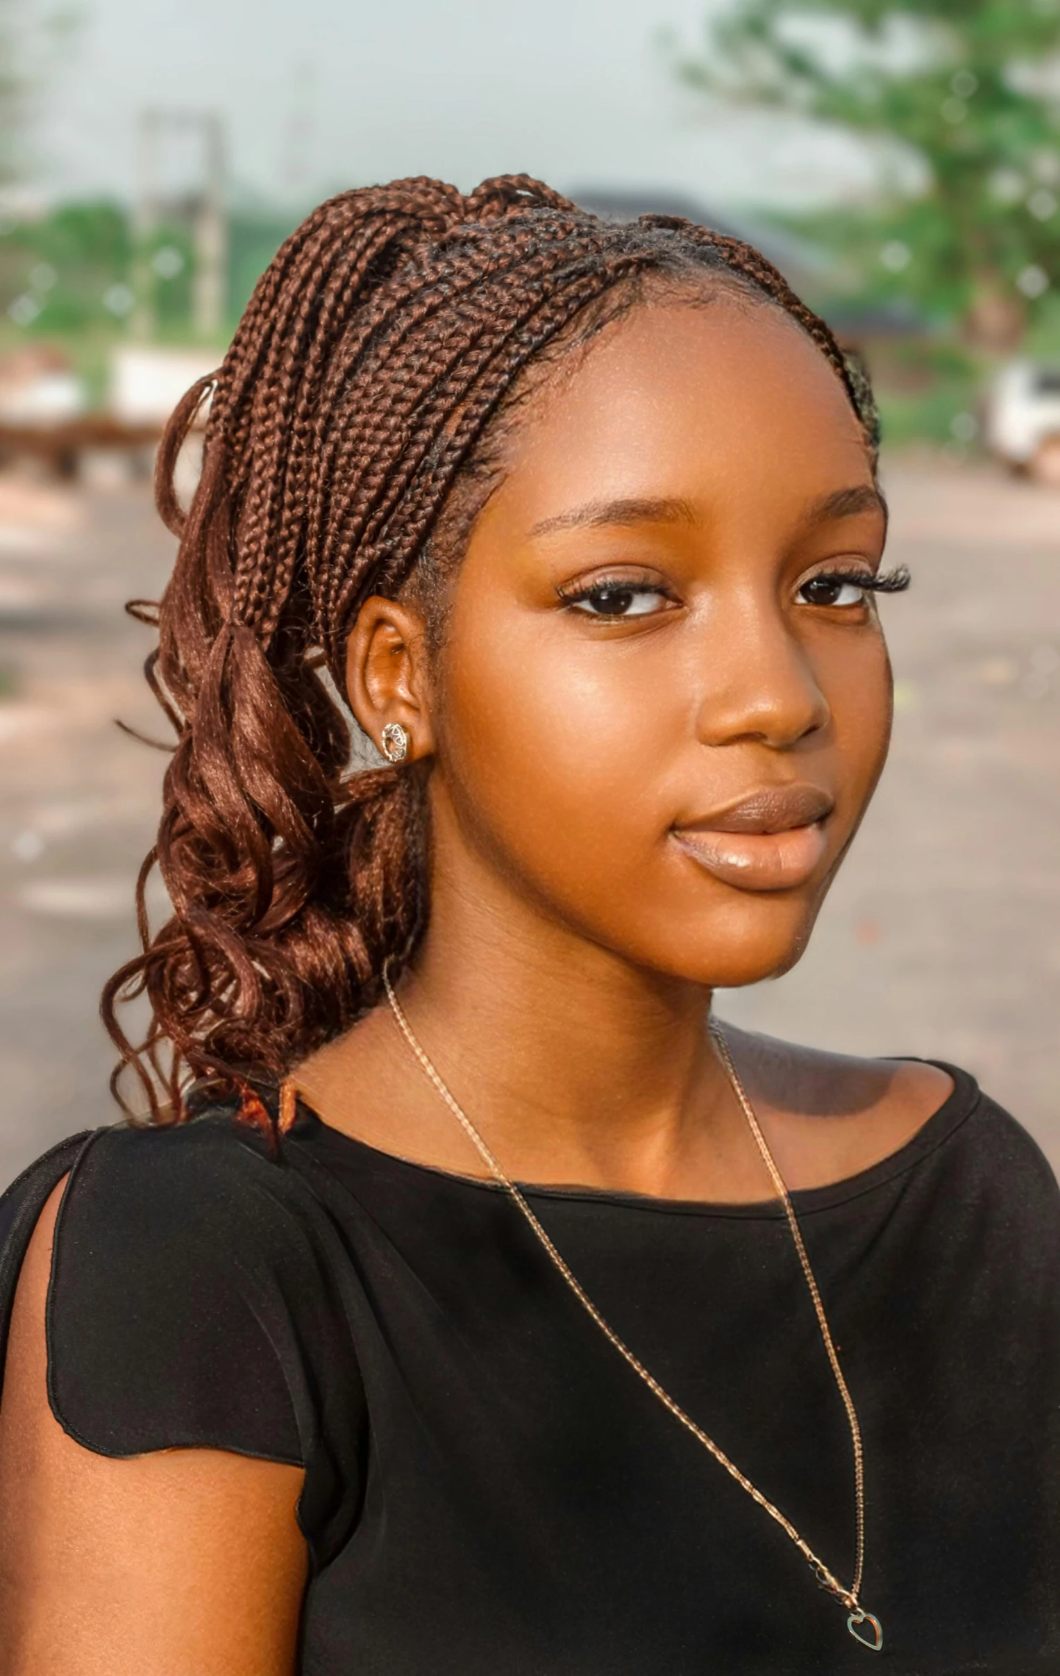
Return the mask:
<path id="1" fill-rule="evenodd" d="M 864 1431 L 879 1656 L 499 1188 L 306 1110 L 276 1156 L 218 1110 L 50 1151 L 0 1200 L 0 1353 L 72 1170 L 52 1408 L 104 1455 L 305 1463 L 303 1676 L 1055 1676 L 1058 1193 L 951 1074 L 901 1151 L 792 1195 Z M 780 1207 L 527 1197 L 613 1327 L 849 1580 L 851 1440 Z"/>

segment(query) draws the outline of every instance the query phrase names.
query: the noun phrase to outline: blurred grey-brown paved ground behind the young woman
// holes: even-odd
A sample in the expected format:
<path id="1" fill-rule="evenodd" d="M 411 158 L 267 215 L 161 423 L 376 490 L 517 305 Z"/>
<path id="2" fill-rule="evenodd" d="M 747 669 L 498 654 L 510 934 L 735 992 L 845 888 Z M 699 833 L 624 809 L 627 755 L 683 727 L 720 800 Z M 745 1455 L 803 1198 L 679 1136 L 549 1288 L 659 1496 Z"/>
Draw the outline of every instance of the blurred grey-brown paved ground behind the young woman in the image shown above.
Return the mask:
<path id="1" fill-rule="evenodd" d="M 722 1014 L 973 1069 L 1060 1166 L 1060 494 L 893 464 L 891 764 L 810 950 Z M 139 677 L 172 543 L 146 491 L 0 479 L 0 1185 L 105 1121 L 95 997 L 132 949 L 164 758 Z"/>

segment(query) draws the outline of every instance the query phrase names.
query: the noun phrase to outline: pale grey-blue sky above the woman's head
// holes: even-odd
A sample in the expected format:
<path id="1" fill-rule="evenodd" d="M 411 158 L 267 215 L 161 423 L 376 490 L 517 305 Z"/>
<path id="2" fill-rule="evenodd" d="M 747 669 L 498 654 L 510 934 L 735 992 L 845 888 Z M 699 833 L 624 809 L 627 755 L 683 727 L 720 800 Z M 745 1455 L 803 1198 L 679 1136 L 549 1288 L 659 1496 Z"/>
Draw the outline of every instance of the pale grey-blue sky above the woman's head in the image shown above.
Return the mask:
<path id="1" fill-rule="evenodd" d="M 718 0 L 707 0 L 718 3 Z M 310 199 L 524 169 L 559 189 L 670 188 L 705 204 L 857 191 L 831 136 L 710 112 L 658 45 L 705 0 L 84 0 L 37 151 L 55 191 L 132 184 L 144 106 L 223 111 L 233 176 Z M 171 169 L 181 171 L 179 153 Z"/>

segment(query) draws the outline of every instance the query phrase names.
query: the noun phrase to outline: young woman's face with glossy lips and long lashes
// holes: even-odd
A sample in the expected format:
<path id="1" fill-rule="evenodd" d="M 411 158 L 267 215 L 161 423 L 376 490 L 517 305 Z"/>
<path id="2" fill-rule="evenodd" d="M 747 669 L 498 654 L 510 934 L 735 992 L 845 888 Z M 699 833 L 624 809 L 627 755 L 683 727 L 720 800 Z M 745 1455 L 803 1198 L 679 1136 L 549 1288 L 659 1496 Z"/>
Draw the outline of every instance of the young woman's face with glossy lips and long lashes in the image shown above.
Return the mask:
<path id="1" fill-rule="evenodd" d="M 435 865 L 462 850 L 638 967 L 782 972 L 891 724 L 856 582 L 884 508 L 841 382 L 722 293 L 635 308 L 524 419 L 454 583 Z"/>

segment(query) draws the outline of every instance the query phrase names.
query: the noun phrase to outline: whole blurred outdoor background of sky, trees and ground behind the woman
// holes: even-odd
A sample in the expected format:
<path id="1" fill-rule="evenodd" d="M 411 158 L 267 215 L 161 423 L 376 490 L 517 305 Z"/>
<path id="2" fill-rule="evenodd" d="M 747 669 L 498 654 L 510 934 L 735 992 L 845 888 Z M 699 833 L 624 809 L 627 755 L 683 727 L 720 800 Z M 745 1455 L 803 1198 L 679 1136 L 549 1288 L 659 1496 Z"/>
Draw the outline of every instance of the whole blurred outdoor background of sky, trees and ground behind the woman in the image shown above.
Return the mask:
<path id="1" fill-rule="evenodd" d="M 965 1064 L 1060 1165 L 1060 0 L 0 0 L 0 1187 L 112 1115 L 164 417 L 320 198 L 502 171 L 750 238 L 866 359 L 893 759 L 720 1012 Z"/>

